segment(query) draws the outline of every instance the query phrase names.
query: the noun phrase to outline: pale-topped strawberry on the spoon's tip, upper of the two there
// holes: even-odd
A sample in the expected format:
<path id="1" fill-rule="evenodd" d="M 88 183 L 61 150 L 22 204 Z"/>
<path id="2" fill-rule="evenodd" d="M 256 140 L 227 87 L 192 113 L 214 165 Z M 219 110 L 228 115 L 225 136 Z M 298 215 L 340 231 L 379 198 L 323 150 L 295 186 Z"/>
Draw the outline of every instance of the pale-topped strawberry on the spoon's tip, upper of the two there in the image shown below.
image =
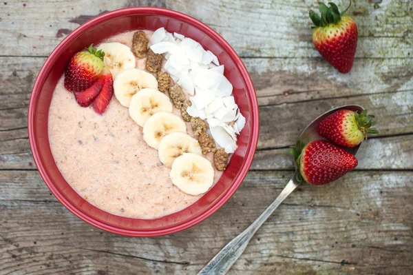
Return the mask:
<path id="1" fill-rule="evenodd" d="M 368 134 L 378 134 L 373 128 L 377 123 L 374 116 L 363 110 L 360 114 L 351 110 L 339 110 L 317 125 L 317 132 L 333 143 L 345 147 L 359 145 Z"/>

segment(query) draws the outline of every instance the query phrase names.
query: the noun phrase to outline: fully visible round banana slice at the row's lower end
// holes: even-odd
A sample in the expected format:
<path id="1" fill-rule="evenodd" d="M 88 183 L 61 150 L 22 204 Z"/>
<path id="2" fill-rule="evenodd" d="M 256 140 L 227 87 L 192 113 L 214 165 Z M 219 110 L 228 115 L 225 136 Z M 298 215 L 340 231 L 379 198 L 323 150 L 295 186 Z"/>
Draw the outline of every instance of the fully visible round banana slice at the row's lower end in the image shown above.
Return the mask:
<path id="1" fill-rule="evenodd" d="M 169 176 L 180 190 L 196 196 L 207 192 L 213 185 L 213 174 L 209 160 L 199 154 L 187 153 L 173 161 Z"/>

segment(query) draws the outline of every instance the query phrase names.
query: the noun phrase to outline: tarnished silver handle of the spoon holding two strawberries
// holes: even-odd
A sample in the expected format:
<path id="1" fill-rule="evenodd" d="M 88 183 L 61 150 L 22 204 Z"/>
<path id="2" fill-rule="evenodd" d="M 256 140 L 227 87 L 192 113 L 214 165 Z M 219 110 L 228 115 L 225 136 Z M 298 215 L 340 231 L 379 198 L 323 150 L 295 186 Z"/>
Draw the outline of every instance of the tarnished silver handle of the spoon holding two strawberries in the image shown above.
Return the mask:
<path id="1" fill-rule="evenodd" d="M 240 258 L 242 252 L 244 252 L 246 245 L 248 245 L 251 238 L 257 232 L 258 228 L 266 221 L 266 219 L 273 214 L 278 205 L 284 201 L 284 199 L 295 190 L 299 183 L 295 183 L 293 179 L 290 179 L 284 190 L 275 198 L 275 201 L 271 203 L 267 209 L 246 229 L 244 232 L 233 238 L 224 248 L 221 249 L 215 257 L 212 258 L 207 265 L 204 266 L 198 273 L 198 275 L 222 275 L 226 274 L 232 265 Z"/>

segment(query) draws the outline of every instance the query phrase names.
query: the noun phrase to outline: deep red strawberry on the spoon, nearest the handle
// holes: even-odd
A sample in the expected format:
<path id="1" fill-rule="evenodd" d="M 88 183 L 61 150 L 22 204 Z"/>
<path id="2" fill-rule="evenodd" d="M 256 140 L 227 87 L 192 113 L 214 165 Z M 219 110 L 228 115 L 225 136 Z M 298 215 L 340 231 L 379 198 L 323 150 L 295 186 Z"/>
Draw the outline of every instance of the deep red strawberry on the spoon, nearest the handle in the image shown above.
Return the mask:
<path id="1" fill-rule="evenodd" d="M 304 146 L 299 143 L 290 153 L 296 159 L 297 181 L 324 185 L 336 181 L 357 166 L 355 156 L 328 141 L 312 141 Z"/>

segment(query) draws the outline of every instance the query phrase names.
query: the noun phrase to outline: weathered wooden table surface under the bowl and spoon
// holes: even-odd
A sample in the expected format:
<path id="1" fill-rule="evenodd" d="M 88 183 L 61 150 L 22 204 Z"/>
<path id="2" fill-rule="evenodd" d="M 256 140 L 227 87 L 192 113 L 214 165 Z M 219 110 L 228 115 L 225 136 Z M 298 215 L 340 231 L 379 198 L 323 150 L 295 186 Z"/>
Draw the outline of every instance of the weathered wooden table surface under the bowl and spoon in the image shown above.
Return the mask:
<path id="1" fill-rule="evenodd" d="M 293 175 L 288 147 L 322 112 L 360 104 L 380 134 L 337 183 L 302 185 L 257 232 L 229 274 L 412 274 L 413 2 L 357 0 L 350 74 L 311 41 L 317 1 L 6 0 L 0 3 L 0 274 L 195 274 L 246 228 Z M 341 6 L 348 1 L 339 1 Z M 41 180 L 27 132 L 41 65 L 74 28 L 105 12 L 162 6 L 220 32 L 246 64 L 260 103 L 260 141 L 240 190 L 189 230 L 116 236 L 88 225 Z M 339 6 L 340 6 L 339 5 Z"/>

